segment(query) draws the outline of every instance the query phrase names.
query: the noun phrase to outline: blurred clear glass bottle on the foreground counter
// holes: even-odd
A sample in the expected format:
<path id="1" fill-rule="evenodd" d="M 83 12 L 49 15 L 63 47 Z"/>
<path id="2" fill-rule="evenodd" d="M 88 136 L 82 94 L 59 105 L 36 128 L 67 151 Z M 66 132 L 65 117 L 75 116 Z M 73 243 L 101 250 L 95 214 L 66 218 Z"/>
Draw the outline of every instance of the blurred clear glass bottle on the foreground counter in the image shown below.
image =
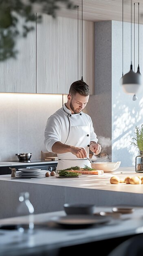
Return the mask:
<path id="1" fill-rule="evenodd" d="M 19 195 L 19 205 L 17 208 L 17 215 L 18 216 L 28 216 L 26 224 L 18 225 L 18 231 L 20 233 L 28 232 L 33 233 L 34 229 L 34 207 L 29 201 L 29 192 L 22 192 Z"/>

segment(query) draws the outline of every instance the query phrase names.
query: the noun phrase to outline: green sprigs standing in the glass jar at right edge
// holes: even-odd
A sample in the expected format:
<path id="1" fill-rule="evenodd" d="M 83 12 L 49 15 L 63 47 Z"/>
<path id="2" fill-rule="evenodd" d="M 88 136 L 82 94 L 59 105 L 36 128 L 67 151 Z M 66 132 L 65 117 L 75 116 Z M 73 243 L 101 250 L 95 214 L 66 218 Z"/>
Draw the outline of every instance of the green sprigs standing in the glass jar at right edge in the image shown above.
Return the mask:
<path id="1" fill-rule="evenodd" d="M 139 127 L 135 127 L 136 131 L 135 133 L 135 137 L 132 138 L 132 142 L 131 145 L 133 144 L 134 146 L 136 146 L 136 148 L 138 148 L 140 151 L 143 151 L 143 124 L 141 125 L 141 129 Z"/>

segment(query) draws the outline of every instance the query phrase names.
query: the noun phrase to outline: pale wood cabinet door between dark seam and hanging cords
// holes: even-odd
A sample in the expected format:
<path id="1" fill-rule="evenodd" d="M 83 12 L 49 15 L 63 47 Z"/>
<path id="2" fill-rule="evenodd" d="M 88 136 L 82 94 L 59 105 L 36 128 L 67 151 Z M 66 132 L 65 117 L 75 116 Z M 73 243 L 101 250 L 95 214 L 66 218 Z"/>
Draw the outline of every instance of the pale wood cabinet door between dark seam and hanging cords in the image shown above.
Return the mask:
<path id="1" fill-rule="evenodd" d="M 67 94 L 77 80 L 77 21 L 42 15 L 37 24 L 37 93 Z"/>

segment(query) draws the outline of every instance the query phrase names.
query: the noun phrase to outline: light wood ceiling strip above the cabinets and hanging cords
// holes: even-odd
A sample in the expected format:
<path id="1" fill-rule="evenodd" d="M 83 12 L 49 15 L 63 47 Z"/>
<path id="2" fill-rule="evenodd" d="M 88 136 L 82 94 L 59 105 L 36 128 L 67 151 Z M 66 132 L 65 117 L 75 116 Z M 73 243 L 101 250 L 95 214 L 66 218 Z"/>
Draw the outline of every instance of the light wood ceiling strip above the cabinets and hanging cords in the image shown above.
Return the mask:
<path id="1" fill-rule="evenodd" d="M 81 19 L 81 0 L 70 0 L 75 5 L 79 5 L 79 19 Z M 134 1 L 133 0 L 83 0 L 83 20 L 102 21 L 118 20 L 131 21 L 131 1 L 132 1 L 132 21 L 134 19 Z M 143 24 L 143 0 L 139 1 L 139 22 Z M 135 21 L 138 22 L 138 3 L 135 2 Z M 61 9 L 57 11 L 57 16 L 77 19 L 77 9 L 66 9 L 65 4 L 60 5 Z M 35 5 L 35 12 L 40 11 L 40 6 Z"/>

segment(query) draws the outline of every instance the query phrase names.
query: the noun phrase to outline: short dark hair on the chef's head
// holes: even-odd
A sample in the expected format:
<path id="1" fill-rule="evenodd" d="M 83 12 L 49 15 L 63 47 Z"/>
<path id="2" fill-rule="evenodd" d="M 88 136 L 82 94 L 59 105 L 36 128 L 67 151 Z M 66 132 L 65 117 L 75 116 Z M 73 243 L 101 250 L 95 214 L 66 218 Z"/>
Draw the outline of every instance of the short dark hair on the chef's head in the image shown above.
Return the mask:
<path id="1" fill-rule="evenodd" d="M 90 94 L 89 85 L 83 80 L 78 80 L 70 85 L 69 94 L 72 96 L 79 93 L 82 96 L 88 96 Z"/>

